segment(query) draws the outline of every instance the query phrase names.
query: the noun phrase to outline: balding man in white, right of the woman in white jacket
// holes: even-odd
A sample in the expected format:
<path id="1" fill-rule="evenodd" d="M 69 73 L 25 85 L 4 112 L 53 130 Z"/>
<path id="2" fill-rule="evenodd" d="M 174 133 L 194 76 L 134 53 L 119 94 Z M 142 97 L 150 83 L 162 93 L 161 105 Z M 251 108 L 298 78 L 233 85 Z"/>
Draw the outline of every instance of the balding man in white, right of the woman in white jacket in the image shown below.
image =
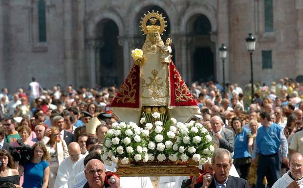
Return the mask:
<path id="1" fill-rule="evenodd" d="M 77 162 L 84 158 L 77 142 L 71 142 L 68 145 L 68 153 L 69 157 L 65 158 L 59 166 L 54 188 L 68 188 L 70 174 L 72 174 Z"/>

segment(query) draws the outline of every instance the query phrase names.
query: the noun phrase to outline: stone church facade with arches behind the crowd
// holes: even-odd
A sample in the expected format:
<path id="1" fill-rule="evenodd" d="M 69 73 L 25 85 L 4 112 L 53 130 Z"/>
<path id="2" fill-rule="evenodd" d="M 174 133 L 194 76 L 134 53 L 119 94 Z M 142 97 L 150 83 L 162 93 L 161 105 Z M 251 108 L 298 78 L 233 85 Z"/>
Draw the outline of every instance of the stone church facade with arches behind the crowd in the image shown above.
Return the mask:
<path id="1" fill-rule="evenodd" d="M 303 74 L 302 0 L 0 0 L 0 87 L 15 91 L 31 77 L 46 88 L 120 85 L 151 10 L 166 16 L 162 39 L 173 39 L 188 83 L 222 82 L 223 43 L 226 82 L 248 83 L 248 33 L 257 38 L 255 81 Z"/>

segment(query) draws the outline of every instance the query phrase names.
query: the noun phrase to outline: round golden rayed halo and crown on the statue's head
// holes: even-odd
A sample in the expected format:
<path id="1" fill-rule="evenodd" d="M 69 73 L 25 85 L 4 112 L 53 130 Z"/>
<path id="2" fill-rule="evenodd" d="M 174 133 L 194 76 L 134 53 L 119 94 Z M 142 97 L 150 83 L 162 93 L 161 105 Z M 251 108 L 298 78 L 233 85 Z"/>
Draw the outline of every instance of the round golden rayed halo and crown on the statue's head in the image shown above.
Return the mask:
<path id="1" fill-rule="evenodd" d="M 162 14 L 159 14 L 158 11 L 148 11 L 148 14 L 144 14 L 144 18 L 141 19 L 142 21 L 140 22 L 140 27 L 141 31 L 143 31 L 143 35 L 155 32 L 159 32 L 159 34 L 163 35 L 163 31 L 166 31 L 165 27 L 167 27 L 167 22 L 164 20 L 165 17 L 162 17 Z M 151 25 L 147 25 L 148 21 L 150 21 Z M 160 25 L 157 24 L 157 21 L 160 23 Z"/>

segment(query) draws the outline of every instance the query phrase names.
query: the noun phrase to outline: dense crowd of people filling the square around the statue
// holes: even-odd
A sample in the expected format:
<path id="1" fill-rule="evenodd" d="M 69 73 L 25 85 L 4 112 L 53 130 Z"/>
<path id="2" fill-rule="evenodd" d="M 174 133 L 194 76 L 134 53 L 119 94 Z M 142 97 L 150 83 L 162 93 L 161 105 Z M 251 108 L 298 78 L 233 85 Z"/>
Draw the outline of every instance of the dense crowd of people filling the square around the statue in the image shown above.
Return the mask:
<path id="1" fill-rule="evenodd" d="M 257 84 L 254 98 L 250 97 L 249 85 L 242 89 L 228 84 L 224 90 L 210 81 L 193 83 L 189 88 L 199 106 L 193 120 L 212 133 L 218 149 L 212 165 L 202 166 L 201 177 L 160 177 L 158 183 L 149 177 L 119 178 L 110 173 L 115 171 L 114 166 L 106 166 L 101 160 L 100 143 L 111 124 L 119 120 L 109 108 L 117 88 L 75 90 L 71 85 L 66 89 L 57 85 L 47 90 L 35 78 L 26 91 L 20 88 L 14 93 L 3 88 L 0 185 L 284 188 L 293 180 L 303 184 L 302 83 L 283 78 L 269 87 Z M 91 131 L 94 118 L 100 123 Z M 108 181 L 109 177 L 115 182 Z"/>

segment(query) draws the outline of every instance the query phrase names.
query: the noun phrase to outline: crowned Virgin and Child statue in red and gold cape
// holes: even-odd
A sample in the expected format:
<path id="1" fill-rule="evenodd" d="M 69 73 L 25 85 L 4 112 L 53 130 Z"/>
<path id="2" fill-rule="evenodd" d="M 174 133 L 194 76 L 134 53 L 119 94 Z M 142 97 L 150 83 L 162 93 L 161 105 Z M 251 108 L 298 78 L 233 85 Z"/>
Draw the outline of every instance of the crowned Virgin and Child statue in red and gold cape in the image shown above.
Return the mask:
<path id="1" fill-rule="evenodd" d="M 158 112 L 188 122 L 198 106 L 171 59 L 172 40 L 161 39 L 165 18 L 148 12 L 141 28 L 147 35 L 141 49 L 132 50 L 134 65 L 111 103 L 111 111 L 124 122 L 140 121 L 144 114 Z"/>

